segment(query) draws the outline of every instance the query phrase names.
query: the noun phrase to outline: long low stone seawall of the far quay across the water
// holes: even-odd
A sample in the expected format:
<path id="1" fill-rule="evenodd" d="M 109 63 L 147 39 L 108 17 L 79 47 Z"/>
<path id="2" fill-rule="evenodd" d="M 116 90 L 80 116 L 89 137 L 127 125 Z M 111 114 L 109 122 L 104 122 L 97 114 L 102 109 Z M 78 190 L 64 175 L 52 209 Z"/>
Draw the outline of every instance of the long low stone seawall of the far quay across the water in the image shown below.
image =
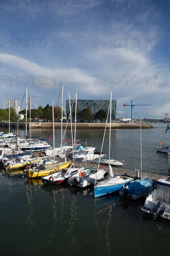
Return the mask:
<path id="1" fill-rule="evenodd" d="M 29 124 L 30 125 L 30 124 Z M 31 128 L 50 128 L 52 125 L 51 122 L 32 122 Z M 71 123 L 63 123 L 63 128 L 67 125 L 68 129 L 71 129 Z M 60 128 L 61 123 L 54 123 L 54 128 Z M 72 124 L 74 128 L 74 124 Z M 76 123 L 76 128 L 78 129 L 105 129 L 105 123 Z M 140 129 L 140 123 L 112 123 L 112 129 Z M 142 129 L 153 128 L 151 124 L 142 123 Z M 107 124 L 107 129 L 109 129 L 109 124 Z"/>

